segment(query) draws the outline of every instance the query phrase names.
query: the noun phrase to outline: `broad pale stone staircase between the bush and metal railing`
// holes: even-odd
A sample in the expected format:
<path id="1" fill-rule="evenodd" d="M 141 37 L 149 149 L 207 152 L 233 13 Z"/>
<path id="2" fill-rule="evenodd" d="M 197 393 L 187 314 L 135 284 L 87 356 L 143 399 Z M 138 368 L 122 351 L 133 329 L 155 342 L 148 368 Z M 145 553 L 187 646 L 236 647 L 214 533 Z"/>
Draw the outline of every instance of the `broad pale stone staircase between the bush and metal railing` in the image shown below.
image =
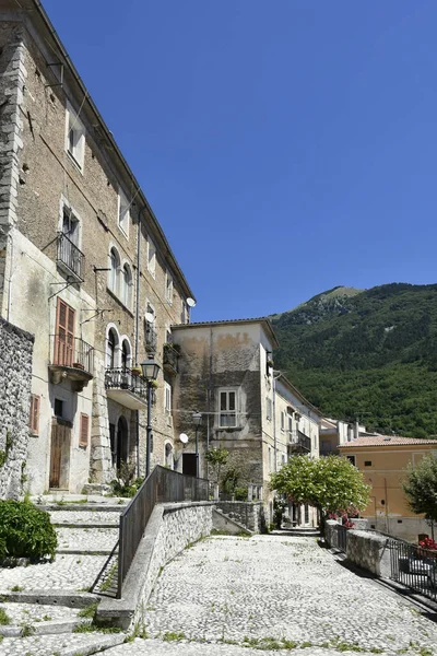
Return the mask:
<path id="1" fill-rule="evenodd" d="M 125 633 L 94 626 L 93 616 L 102 596 L 115 595 L 119 515 L 129 500 L 33 501 L 50 513 L 57 557 L 0 569 L 0 656 L 87 656 L 122 643 Z"/>

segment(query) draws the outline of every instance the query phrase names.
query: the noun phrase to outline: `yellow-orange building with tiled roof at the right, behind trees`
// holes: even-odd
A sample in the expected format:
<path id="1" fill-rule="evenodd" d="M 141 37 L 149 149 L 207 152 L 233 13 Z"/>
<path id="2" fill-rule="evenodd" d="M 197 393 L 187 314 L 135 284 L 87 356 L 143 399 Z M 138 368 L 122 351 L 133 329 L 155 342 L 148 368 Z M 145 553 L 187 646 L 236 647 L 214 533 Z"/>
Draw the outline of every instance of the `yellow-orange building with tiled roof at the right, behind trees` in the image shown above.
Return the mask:
<path id="1" fill-rule="evenodd" d="M 341 444 L 339 452 L 371 487 L 370 503 L 362 513 L 369 518 L 369 528 L 413 541 L 420 534 L 430 535 L 423 516 L 410 509 L 401 481 L 410 462 L 416 465 L 429 453 L 437 457 L 436 440 L 374 435 Z"/>

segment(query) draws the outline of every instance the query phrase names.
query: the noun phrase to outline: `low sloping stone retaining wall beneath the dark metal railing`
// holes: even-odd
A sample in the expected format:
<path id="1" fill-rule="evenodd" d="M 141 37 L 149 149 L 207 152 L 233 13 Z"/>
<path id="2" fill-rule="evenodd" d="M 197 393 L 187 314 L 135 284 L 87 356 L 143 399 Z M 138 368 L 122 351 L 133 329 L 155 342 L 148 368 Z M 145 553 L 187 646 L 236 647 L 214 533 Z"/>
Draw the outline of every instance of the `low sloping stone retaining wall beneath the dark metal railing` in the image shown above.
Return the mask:
<path id="1" fill-rule="evenodd" d="M 142 542 L 123 585 L 123 598 L 104 598 L 98 607 L 99 624 L 127 630 L 144 623 L 144 611 L 163 567 L 188 544 L 211 534 L 214 503 L 177 503 L 155 506 Z"/>

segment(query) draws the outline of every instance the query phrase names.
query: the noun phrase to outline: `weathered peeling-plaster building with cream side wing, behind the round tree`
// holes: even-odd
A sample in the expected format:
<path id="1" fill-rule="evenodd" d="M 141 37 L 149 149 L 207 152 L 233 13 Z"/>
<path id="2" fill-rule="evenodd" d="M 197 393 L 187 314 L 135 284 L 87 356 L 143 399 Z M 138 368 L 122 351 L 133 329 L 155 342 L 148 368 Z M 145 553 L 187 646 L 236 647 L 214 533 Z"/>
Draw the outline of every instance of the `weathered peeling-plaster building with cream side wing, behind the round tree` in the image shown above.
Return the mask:
<path id="1" fill-rule="evenodd" d="M 173 326 L 173 339 L 180 351 L 175 434 L 189 437 L 187 444 L 176 440 L 176 468 L 196 473 L 192 414 L 199 412 L 200 476 L 208 473 L 205 452 L 225 448 L 238 485 L 262 495 L 271 520 L 270 475 L 294 453 L 317 455 L 319 413 L 274 371 L 279 344 L 269 319 Z"/>

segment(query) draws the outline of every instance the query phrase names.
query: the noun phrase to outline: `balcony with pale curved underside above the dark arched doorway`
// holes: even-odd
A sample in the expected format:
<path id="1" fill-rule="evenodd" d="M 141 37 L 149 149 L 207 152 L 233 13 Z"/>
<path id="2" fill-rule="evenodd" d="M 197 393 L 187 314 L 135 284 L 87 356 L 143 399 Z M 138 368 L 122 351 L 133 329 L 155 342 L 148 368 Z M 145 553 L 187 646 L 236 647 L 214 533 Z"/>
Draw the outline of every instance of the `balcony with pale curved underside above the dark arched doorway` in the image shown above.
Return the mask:
<path id="1" fill-rule="evenodd" d="M 107 368 L 105 387 L 106 396 L 125 408 L 143 410 L 147 407 L 147 384 L 129 368 Z"/>

